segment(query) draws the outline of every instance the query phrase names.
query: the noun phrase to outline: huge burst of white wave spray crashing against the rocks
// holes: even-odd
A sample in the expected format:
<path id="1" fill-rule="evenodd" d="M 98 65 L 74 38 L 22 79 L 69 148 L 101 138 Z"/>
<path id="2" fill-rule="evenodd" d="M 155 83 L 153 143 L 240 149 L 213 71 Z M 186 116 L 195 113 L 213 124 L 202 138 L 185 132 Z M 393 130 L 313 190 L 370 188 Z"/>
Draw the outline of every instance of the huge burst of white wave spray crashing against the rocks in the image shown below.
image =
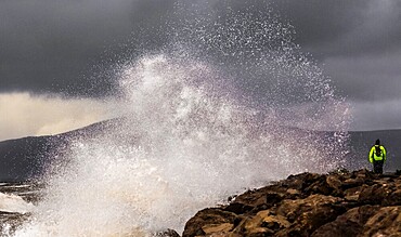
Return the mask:
<path id="1" fill-rule="evenodd" d="M 70 142 L 15 236 L 182 232 L 246 188 L 346 166 L 346 133 L 294 129 L 346 131 L 348 115 L 289 25 L 268 6 L 198 17 L 178 8 L 169 43 L 116 65 L 119 119 Z"/>

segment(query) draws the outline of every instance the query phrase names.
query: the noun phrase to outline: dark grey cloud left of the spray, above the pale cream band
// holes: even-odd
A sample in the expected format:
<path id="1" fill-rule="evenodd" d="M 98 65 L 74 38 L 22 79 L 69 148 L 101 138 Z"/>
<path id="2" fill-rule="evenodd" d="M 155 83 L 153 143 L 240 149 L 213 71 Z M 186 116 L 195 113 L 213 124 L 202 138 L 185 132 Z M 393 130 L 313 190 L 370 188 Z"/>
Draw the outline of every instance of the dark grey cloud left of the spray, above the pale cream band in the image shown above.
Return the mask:
<path id="1" fill-rule="evenodd" d="M 93 77 L 103 73 L 98 66 L 115 63 L 139 25 L 160 21 L 167 2 L 2 1 L 0 92 L 104 95 L 112 82 Z"/>

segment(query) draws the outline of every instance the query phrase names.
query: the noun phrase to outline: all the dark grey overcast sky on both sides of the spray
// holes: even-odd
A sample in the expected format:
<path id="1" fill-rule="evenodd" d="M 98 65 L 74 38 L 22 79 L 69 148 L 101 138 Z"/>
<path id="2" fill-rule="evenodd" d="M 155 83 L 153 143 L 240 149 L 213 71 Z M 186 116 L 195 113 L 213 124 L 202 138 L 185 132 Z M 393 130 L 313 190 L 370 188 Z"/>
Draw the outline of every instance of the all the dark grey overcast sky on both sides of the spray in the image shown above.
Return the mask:
<path id="1" fill-rule="evenodd" d="M 0 1 L 0 93 L 103 95 L 112 79 L 93 77 L 99 68 L 124 54 L 121 44 L 139 35 L 138 26 L 160 25 L 173 2 Z M 295 42 L 354 106 L 353 129 L 401 128 L 401 1 L 272 0 L 272 5 L 295 27 Z"/>

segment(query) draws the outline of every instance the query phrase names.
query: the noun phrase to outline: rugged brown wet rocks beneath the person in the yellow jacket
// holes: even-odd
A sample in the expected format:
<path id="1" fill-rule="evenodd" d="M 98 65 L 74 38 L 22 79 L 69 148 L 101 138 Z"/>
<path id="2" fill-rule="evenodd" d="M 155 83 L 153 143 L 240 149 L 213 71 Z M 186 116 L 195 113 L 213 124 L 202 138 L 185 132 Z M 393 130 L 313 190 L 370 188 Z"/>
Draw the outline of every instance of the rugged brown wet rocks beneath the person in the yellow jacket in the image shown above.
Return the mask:
<path id="1" fill-rule="evenodd" d="M 401 236 L 401 175 L 290 175 L 197 212 L 182 236 Z"/>

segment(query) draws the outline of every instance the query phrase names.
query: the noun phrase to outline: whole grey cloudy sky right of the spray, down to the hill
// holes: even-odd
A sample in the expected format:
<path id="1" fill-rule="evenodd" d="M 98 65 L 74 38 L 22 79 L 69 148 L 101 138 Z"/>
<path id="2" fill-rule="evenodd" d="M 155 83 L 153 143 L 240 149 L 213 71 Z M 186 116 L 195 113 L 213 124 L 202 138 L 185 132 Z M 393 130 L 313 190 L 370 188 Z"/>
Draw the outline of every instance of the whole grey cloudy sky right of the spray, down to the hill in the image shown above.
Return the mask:
<path id="1" fill-rule="evenodd" d="M 296 42 L 352 105 L 352 130 L 401 128 L 401 2 L 277 1 Z"/>

